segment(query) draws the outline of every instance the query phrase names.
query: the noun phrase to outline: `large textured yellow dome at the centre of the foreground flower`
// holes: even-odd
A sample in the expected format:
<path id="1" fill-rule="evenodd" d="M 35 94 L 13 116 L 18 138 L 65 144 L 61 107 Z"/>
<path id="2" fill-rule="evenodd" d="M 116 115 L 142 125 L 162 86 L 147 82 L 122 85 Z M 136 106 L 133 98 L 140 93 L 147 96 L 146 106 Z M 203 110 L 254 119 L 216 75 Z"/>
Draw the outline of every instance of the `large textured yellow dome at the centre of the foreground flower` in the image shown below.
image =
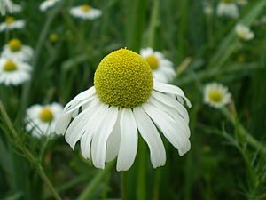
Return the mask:
<path id="1" fill-rule="evenodd" d="M 98 98 L 111 106 L 134 108 L 153 91 L 153 72 L 136 52 L 127 49 L 108 54 L 94 76 Z"/>

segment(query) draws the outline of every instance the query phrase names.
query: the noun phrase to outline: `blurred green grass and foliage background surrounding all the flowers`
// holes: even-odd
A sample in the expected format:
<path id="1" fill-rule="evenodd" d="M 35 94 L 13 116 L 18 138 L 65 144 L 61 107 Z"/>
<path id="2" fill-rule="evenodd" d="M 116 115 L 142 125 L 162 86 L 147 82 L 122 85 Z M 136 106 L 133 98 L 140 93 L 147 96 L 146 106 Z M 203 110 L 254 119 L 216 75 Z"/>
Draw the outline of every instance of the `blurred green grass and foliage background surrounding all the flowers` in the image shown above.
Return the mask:
<path id="1" fill-rule="evenodd" d="M 118 200 L 121 189 L 129 200 L 266 199 L 265 0 L 238 5 L 238 18 L 218 16 L 218 0 L 61 0 L 45 12 L 39 0 L 14 2 L 23 10 L 11 16 L 26 24 L 0 32 L 1 50 L 18 38 L 34 52 L 27 82 L 0 84 L 0 199 Z M 101 16 L 74 18 L 69 10 L 80 4 Z M 240 38 L 237 24 L 254 38 Z M 25 117 L 35 104 L 65 106 L 93 85 L 108 53 L 125 47 L 152 47 L 174 63 L 176 76 L 168 84 L 192 102 L 192 148 L 179 156 L 162 137 L 167 162 L 153 169 L 139 137 L 128 180 L 121 180 L 116 160 L 99 170 L 83 158 L 79 144 L 73 150 L 63 136 L 33 137 Z M 204 103 L 205 85 L 214 82 L 231 92 L 221 108 Z"/>

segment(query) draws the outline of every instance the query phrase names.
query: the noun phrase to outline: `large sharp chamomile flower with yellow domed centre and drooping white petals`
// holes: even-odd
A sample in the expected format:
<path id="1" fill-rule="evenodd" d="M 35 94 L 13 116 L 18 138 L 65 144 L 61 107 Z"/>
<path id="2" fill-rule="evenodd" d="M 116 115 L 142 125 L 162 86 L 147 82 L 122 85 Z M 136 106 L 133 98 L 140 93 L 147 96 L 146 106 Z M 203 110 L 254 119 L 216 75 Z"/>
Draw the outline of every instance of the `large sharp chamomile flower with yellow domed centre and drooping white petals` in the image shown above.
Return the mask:
<path id="1" fill-rule="evenodd" d="M 153 72 L 136 52 L 121 49 L 98 65 L 94 86 L 78 94 L 64 108 L 56 132 L 74 148 L 81 141 L 82 156 L 98 168 L 117 157 L 117 171 L 127 171 L 137 154 L 138 133 L 151 152 L 153 167 L 166 162 L 160 132 L 183 156 L 191 148 L 190 101 L 175 85 L 153 83 Z"/>

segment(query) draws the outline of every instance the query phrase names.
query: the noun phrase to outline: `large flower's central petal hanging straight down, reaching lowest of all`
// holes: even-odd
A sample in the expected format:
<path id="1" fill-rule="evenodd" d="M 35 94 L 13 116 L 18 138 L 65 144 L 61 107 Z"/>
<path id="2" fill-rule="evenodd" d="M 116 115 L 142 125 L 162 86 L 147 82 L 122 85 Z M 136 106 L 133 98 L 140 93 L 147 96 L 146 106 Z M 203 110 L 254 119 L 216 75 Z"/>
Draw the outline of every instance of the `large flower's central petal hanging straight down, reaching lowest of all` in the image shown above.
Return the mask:
<path id="1" fill-rule="evenodd" d="M 117 171 L 127 171 L 137 154 L 137 124 L 131 109 L 121 111 L 121 143 L 117 158 Z"/>

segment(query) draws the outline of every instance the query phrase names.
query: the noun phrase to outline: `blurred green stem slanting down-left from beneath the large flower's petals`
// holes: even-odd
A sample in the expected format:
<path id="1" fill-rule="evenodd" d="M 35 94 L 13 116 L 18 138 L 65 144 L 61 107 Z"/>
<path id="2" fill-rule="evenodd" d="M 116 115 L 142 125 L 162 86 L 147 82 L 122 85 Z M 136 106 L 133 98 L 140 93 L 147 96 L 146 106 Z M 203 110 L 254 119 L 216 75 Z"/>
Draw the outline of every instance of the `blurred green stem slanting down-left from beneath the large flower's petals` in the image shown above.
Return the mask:
<path id="1" fill-rule="evenodd" d="M 114 162 L 111 164 L 106 165 L 106 169 L 103 171 L 98 172 L 98 174 L 90 181 L 88 186 L 82 192 L 81 196 L 77 198 L 77 200 L 88 200 L 90 199 L 91 195 L 95 192 L 95 189 L 101 183 L 106 175 L 113 169 Z"/>

